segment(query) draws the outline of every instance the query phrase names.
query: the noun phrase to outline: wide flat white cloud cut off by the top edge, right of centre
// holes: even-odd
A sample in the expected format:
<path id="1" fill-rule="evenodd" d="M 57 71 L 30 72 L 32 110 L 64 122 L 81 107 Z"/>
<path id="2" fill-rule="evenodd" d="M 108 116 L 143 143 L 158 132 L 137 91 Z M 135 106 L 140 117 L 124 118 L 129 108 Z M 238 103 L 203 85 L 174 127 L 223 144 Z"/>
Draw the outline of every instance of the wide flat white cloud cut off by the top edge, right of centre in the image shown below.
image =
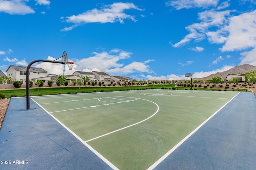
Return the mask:
<path id="1" fill-rule="evenodd" d="M 176 10 L 180 10 L 182 8 L 208 8 L 208 7 L 216 7 L 219 0 L 170 0 L 166 2 L 166 6 L 172 6 L 176 8 Z"/>

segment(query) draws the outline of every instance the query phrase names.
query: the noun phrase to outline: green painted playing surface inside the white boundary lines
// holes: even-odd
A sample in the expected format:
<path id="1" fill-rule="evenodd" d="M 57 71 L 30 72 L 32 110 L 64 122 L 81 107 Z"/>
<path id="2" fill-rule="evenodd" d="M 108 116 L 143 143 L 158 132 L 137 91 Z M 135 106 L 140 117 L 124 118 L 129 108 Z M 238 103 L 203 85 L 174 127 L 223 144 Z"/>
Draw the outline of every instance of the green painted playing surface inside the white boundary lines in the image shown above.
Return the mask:
<path id="1" fill-rule="evenodd" d="M 32 99 L 112 168 L 147 169 L 237 94 L 132 90 Z"/>

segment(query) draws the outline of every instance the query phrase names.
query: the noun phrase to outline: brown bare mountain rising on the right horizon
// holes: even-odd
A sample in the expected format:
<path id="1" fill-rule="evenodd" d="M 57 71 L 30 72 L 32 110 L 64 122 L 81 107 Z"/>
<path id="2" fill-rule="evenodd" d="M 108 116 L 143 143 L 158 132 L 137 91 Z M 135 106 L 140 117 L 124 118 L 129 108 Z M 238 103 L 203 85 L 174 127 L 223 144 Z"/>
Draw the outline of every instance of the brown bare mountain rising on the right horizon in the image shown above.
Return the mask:
<path id="1" fill-rule="evenodd" d="M 229 70 L 226 70 L 224 72 L 217 72 L 215 74 L 211 74 L 210 76 L 203 77 L 203 78 L 196 78 L 197 80 L 208 80 L 211 79 L 214 76 L 220 76 L 222 80 L 224 80 L 228 74 L 244 74 L 246 72 L 250 72 L 252 70 L 256 70 L 256 66 L 250 65 L 250 64 L 243 64 L 240 66 L 235 66 L 233 68 L 230 68 Z"/>

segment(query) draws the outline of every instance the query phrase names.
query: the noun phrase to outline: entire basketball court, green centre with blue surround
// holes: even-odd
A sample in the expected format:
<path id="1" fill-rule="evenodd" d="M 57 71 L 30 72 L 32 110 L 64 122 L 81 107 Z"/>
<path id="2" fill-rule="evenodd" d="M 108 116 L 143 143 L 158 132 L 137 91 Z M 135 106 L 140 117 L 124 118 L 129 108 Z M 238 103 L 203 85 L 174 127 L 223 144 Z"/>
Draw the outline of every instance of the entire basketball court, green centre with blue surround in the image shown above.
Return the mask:
<path id="1" fill-rule="evenodd" d="M 3 169 L 256 166 L 252 92 L 130 90 L 35 96 L 30 103 L 26 110 L 25 98 L 10 102 L 0 158 L 11 164 Z"/>

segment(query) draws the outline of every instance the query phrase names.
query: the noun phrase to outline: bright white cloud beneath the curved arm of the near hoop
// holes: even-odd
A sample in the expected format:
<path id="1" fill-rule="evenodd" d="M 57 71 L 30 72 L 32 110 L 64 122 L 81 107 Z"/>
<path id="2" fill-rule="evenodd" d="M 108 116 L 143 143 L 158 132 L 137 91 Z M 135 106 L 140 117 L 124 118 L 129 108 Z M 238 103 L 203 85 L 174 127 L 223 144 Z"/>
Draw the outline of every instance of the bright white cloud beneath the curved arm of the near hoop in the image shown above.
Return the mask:
<path id="1" fill-rule="evenodd" d="M 48 56 L 47 60 L 53 61 L 53 60 L 55 60 L 55 58 Z M 57 75 L 64 74 L 63 73 L 63 70 L 64 70 L 63 64 L 42 62 L 42 63 L 36 64 L 35 67 L 43 68 L 44 70 L 48 71 L 48 74 L 57 74 Z"/>

